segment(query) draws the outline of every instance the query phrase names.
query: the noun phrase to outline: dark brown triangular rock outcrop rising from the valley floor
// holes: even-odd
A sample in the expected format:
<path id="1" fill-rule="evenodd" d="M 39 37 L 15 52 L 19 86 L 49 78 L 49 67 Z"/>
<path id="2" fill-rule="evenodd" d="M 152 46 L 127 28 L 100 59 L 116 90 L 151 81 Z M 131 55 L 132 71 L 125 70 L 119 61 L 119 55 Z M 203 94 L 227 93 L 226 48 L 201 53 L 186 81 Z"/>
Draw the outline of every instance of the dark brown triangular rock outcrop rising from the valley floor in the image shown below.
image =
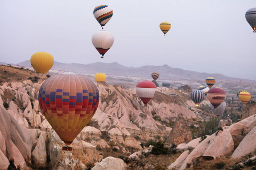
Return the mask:
<path id="1" fill-rule="evenodd" d="M 177 120 L 172 128 L 170 135 L 168 136 L 165 146 L 179 145 L 180 143 L 188 143 L 192 141 L 192 134 L 189 130 L 188 122 L 183 117 L 183 114 L 179 114 Z"/>

